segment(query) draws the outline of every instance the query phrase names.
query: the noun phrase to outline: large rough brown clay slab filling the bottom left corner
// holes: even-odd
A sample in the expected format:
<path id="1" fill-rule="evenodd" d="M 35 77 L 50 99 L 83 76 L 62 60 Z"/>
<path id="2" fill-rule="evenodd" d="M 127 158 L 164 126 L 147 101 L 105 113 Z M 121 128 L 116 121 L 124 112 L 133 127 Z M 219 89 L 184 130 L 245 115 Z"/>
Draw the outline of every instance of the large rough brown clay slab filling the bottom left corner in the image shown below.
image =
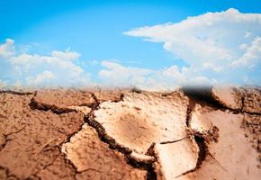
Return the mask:
<path id="1" fill-rule="evenodd" d="M 74 173 L 73 168 L 64 161 L 58 146 L 80 128 L 83 114 L 32 111 L 30 102 L 30 95 L 0 94 L 1 172 L 6 178 L 37 179 L 44 171 L 45 175 L 55 174 L 53 179 L 72 179 L 66 169 Z M 58 161 L 65 166 L 53 166 L 55 173 L 48 173 Z"/>

